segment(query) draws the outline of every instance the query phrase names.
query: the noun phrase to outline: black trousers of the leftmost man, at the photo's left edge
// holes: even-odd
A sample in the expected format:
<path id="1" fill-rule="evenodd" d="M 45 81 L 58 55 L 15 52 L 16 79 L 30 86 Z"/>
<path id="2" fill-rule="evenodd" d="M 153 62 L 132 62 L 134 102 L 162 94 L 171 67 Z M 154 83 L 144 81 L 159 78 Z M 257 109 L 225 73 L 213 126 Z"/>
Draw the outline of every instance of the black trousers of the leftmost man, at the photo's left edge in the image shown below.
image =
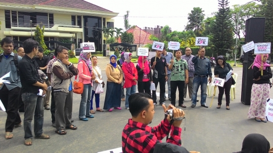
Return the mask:
<path id="1" fill-rule="evenodd" d="M 0 99 L 6 109 L 6 132 L 12 132 L 14 125 L 21 123 L 21 118 L 18 113 L 20 88 L 15 87 L 11 90 L 6 85 L 0 90 Z"/>

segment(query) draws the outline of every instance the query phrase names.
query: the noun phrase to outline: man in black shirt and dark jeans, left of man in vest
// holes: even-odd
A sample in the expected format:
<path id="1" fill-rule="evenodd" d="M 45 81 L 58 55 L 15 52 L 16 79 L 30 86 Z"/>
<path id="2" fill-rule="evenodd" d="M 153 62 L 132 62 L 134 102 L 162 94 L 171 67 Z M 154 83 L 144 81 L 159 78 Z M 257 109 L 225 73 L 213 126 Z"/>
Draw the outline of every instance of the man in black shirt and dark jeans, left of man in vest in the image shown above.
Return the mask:
<path id="1" fill-rule="evenodd" d="M 31 122 L 34 116 L 35 138 L 49 139 L 50 136 L 42 133 L 43 126 L 43 98 L 42 95 L 47 91 L 48 85 L 40 80 L 38 75 L 38 64 L 33 60 L 37 55 L 39 43 L 31 38 L 24 41 L 25 56 L 19 64 L 19 74 L 22 82 L 22 99 L 25 104 L 24 131 L 25 145 L 32 145 Z"/>

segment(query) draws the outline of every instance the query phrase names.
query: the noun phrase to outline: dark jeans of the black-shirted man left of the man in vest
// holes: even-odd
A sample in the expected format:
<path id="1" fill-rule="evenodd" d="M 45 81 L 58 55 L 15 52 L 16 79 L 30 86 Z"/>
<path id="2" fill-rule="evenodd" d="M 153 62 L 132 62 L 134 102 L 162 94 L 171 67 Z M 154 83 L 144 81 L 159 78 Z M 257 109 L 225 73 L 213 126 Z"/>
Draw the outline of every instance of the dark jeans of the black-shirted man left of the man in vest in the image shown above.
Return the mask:
<path id="1" fill-rule="evenodd" d="M 43 97 L 37 93 L 22 93 L 22 100 L 25 105 L 24 131 L 25 139 L 32 139 L 31 121 L 34 116 L 34 134 L 41 136 L 43 125 Z"/>

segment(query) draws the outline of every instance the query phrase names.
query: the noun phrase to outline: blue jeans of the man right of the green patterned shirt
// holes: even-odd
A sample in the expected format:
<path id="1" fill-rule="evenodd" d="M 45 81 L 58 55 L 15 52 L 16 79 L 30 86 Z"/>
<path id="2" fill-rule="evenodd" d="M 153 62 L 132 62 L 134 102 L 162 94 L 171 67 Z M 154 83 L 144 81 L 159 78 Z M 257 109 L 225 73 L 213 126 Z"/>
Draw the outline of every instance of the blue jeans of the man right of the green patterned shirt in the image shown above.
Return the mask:
<path id="1" fill-rule="evenodd" d="M 192 105 L 196 105 L 197 92 L 201 85 L 201 105 L 206 104 L 208 77 L 195 76 L 193 80 Z"/>

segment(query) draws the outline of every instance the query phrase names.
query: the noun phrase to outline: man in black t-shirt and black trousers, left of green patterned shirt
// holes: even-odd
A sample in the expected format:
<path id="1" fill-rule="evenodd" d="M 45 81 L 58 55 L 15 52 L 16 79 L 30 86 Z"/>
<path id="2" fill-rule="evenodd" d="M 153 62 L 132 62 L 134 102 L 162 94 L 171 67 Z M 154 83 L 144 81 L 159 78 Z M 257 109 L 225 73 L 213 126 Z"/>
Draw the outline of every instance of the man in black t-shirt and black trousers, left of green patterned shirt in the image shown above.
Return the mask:
<path id="1" fill-rule="evenodd" d="M 155 87 L 157 88 L 158 83 L 160 85 L 159 105 L 165 105 L 165 81 L 168 80 L 168 73 L 166 59 L 164 57 L 161 57 L 161 54 L 161 50 L 156 50 L 156 57 L 153 57 L 151 59 L 151 69 L 153 70 L 153 81 L 155 83 Z M 153 90 L 152 97 L 154 101 L 154 106 L 156 107 L 156 90 Z"/>

